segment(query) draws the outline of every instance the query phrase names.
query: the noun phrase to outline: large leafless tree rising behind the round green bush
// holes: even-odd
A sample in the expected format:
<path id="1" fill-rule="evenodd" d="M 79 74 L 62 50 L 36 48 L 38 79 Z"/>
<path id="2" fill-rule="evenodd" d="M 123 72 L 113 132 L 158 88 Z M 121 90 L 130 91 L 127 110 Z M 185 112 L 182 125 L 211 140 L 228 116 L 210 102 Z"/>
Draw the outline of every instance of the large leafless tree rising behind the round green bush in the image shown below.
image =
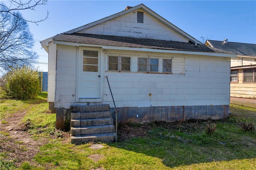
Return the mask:
<path id="1" fill-rule="evenodd" d="M 0 6 L 1 11 L 7 10 Z M 34 39 L 20 12 L 0 12 L 0 67 L 8 71 L 24 65 L 32 66 L 38 58 L 32 51 Z"/>

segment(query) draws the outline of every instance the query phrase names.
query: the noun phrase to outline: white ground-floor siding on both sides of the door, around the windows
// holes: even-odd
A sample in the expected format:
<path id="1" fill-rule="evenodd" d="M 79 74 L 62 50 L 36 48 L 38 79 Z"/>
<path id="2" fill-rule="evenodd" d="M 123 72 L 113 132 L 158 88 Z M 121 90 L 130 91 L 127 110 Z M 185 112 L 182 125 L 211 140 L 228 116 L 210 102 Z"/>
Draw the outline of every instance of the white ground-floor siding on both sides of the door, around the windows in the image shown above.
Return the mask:
<path id="1" fill-rule="evenodd" d="M 102 64 L 102 98 L 114 107 L 229 105 L 229 58 L 138 51 L 107 50 Z M 108 71 L 108 55 L 130 56 L 131 72 Z M 173 73 L 137 72 L 138 57 L 172 59 Z M 56 107 L 69 108 L 76 94 L 76 47 L 58 45 Z M 207 67 L 208 66 L 208 67 Z M 159 70 L 162 67 L 159 66 Z M 176 72 L 174 72 L 176 71 Z M 94 101 L 91 101 L 94 102 Z"/>

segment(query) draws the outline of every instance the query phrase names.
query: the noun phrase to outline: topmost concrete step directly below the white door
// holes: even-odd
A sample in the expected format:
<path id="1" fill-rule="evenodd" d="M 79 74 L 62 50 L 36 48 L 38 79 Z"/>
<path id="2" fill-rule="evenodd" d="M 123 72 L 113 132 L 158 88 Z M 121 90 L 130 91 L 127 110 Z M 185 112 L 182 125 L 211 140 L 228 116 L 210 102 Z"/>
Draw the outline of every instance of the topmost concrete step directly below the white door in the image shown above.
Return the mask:
<path id="1" fill-rule="evenodd" d="M 109 111 L 109 105 L 92 105 L 92 106 L 70 106 L 71 112 L 97 112 Z"/>

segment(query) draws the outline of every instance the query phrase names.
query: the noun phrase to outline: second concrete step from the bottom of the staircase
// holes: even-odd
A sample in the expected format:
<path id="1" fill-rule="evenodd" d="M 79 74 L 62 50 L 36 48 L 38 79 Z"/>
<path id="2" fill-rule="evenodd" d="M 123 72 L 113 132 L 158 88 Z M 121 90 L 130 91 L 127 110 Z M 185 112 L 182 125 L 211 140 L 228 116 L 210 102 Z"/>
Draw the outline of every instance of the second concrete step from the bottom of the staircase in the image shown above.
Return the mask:
<path id="1" fill-rule="evenodd" d="M 115 133 L 114 125 L 71 127 L 71 136 L 92 135 L 98 133 Z"/>

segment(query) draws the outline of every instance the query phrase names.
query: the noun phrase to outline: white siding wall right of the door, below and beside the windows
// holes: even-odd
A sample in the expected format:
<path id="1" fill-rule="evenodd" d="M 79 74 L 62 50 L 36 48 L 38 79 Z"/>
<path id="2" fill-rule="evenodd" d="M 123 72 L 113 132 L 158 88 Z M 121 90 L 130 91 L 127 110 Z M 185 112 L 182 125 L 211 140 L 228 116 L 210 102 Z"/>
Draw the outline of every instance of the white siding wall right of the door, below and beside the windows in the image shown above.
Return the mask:
<path id="1" fill-rule="evenodd" d="M 160 56 L 160 54 L 152 55 Z M 173 55 L 170 56 L 173 57 Z M 176 61 L 182 63 L 184 60 L 184 74 L 108 72 L 105 64 L 105 75 L 108 76 L 116 106 L 229 105 L 230 70 L 226 69 L 230 66 L 229 58 L 179 55 L 173 58 L 173 67 Z M 110 104 L 110 107 L 113 107 L 105 79 L 103 96 L 104 104 Z"/>

